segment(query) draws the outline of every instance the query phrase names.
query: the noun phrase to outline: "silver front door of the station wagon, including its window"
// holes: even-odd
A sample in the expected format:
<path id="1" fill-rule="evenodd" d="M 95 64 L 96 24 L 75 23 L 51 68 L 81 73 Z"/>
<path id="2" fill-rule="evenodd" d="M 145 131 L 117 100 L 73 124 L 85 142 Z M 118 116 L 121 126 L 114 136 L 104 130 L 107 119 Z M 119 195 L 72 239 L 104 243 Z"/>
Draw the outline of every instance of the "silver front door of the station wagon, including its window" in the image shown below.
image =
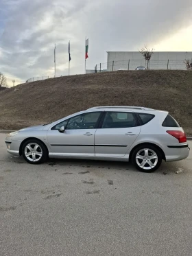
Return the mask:
<path id="1" fill-rule="evenodd" d="M 50 156 L 95 156 L 94 135 L 101 112 L 84 113 L 62 121 L 47 132 Z M 64 132 L 60 127 L 64 126 Z"/>

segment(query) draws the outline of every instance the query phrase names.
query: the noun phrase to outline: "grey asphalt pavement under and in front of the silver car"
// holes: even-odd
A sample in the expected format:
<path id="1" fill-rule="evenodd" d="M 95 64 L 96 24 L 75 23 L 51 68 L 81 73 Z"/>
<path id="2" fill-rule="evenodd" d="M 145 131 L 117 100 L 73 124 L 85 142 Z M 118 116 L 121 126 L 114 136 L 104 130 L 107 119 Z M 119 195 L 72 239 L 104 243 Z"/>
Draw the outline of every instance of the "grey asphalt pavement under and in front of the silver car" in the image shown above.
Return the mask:
<path id="1" fill-rule="evenodd" d="M 1 256 L 192 255 L 192 154 L 153 174 L 117 162 L 36 166 L 8 154 L 4 139 Z"/>

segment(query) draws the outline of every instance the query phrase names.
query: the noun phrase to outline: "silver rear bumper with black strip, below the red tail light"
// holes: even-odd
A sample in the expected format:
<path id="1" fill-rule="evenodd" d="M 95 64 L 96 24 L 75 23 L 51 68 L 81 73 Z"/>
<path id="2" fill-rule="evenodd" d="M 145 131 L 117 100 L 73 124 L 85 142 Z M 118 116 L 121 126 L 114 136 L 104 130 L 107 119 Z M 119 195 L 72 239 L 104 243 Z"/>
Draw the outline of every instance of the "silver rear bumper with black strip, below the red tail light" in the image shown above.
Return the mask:
<path id="1" fill-rule="evenodd" d="M 168 150 L 166 150 L 167 152 L 165 154 L 167 162 L 180 161 L 182 159 L 187 159 L 189 156 L 190 148 L 188 144 L 167 146 L 167 148 Z"/>

